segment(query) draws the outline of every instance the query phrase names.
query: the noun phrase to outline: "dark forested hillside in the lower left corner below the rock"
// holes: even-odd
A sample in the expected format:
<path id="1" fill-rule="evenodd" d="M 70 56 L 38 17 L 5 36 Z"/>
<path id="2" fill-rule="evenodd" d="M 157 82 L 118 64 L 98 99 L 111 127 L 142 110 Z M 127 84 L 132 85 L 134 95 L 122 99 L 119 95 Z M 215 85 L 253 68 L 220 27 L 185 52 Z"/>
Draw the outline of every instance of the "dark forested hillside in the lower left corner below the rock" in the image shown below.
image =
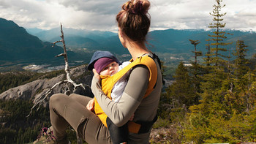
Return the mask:
<path id="1" fill-rule="evenodd" d="M 50 126 L 47 107 L 40 107 L 37 112 L 26 117 L 32 106 L 32 102 L 21 99 L 0 99 L 1 143 L 29 143 L 37 138 L 39 129 Z"/>

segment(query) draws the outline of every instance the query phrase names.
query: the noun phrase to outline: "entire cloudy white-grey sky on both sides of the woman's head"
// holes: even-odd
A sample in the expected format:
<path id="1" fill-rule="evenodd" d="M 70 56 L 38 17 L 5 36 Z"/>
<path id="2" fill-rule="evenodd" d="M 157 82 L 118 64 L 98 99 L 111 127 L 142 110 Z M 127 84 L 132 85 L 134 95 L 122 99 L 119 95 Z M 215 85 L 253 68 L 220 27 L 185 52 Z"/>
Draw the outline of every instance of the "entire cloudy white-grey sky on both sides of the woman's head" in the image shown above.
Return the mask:
<path id="1" fill-rule="evenodd" d="M 117 31 L 116 14 L 127 0 L 0 0 L 0 18 L 26 29 Z M 149 0 L 151 30 L 208 29 L 215 0 Z M 256 0 L 223 0 L 226 29 L 256 31 Z"/>

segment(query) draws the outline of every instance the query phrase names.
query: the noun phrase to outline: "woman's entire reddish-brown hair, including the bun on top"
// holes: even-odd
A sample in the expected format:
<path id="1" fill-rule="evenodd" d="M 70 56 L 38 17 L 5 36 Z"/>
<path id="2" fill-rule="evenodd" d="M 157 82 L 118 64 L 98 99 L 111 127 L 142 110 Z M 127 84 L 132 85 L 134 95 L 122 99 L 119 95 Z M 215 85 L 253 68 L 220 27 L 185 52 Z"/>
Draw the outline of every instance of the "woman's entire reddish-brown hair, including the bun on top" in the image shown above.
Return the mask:
<path id="1" fill-rule="evenodd" d="M 122 6 L 123 10 L 116 15 L 118 27 L 129 39 L 135 42 L 146 41 L 151 21 L 149 7 L 148 0 L 131 0 L 127 1 Z"/>

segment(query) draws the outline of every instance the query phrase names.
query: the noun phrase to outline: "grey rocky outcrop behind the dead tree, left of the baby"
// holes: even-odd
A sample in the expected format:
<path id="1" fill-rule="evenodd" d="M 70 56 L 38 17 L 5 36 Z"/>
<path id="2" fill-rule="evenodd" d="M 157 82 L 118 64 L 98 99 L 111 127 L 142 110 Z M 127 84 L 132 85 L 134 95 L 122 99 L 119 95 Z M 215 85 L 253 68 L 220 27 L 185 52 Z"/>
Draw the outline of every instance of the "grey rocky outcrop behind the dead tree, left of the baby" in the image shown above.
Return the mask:
<path id="1" fill-rule="evenodd" d="M 91 86 L 91 78 L 93 75 L 91 72 L 88 72 L 85 65 L 71 69 L 70 74 L 72 76 L 72 80 L 74 80 L 75 83 L 83 83 L 87 86 Z M 0 94 L 0 99 L 28 99 L 35 101 L 35 99 L 37 99 L 39 96 L 45 94 L 45 92 L 48 91 L 49 88 L 53 87 L 56 83 L 59 83 L 61 80 L 65 79 L 66 75 L 62 74 L 51 79 L 45 78 L 34 80 L 33 82 L 26 83 L 23 86 L 10 88 L 9 90 L 4 91 Z M 61 84 L 59 86 L 56 86 L 56 88 L 53 88 L 53 91 L 49 95 L 49 97 L 52 94 L 64 93 L 65 90 L 67 90 L 67 84 Z M 89 87 L 86 87 L 86 90 L 83 90 L 83 88 L 78 88 L 74 93 L 86 96 L 93 96 Z"/>

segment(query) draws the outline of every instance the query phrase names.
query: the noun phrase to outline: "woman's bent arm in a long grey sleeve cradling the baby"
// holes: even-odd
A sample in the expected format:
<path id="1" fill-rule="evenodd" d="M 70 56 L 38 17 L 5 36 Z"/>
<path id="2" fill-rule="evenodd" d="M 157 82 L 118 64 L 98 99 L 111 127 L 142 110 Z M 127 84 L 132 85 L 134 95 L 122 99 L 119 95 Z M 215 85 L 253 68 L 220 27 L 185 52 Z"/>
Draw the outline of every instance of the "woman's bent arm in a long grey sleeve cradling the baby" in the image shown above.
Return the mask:
<path id="1" fill-rule="evenodd" d="M 132 69 L 129 75 L 127 86 L 118 103 L 113 102 L 103 93 L 99 84 L 99 79 L 93 77 L 91 82 L 91 90 L 102 107 L 102 110 L 108 115 L 111 121 L 116 126 L 122 126 L 129 121 L 129 118 L 135 113 L 135 110 L 140 105 L 143 96 L 148 88 L 148 68 L 140 65 Z"/>

